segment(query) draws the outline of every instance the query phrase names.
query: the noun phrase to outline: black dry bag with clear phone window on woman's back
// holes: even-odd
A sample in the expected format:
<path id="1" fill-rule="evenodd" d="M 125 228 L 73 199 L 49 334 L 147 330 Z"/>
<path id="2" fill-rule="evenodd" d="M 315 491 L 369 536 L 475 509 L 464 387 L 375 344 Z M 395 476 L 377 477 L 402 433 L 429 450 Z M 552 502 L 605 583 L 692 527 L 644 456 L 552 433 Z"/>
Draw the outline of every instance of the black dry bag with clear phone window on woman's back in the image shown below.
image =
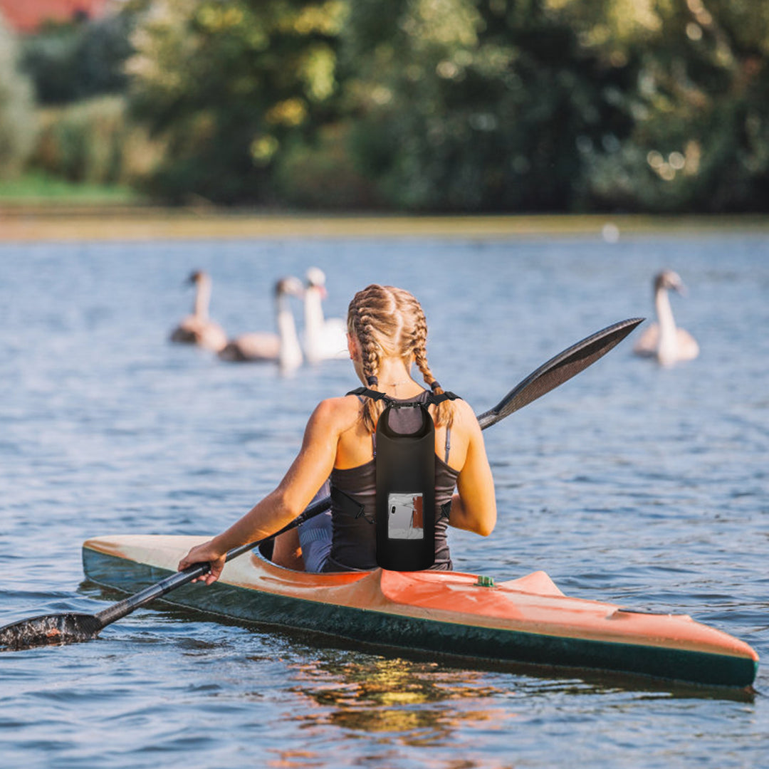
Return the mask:
<path id="1" fill-rule="evenodd" d="M 435 425 L 428 405 L 458 396 L 430 394 L 414 403 L 367 388 L 353 394 L 387 404 L 376 434 L 377 564 L 390 571 L 428 569 L 435 562 Z"/>

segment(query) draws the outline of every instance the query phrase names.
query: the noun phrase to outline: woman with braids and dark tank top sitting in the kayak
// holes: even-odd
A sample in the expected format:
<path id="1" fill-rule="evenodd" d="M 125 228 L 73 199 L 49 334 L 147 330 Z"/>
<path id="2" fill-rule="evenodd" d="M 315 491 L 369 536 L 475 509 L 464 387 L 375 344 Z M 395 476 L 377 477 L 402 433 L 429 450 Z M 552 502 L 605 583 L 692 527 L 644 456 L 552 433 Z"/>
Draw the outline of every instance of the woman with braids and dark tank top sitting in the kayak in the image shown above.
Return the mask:
<path id="1" fill-rule="evenodd" d="M 443 390 L 428 366 L 427 322 L 408 291 L 370 285 L 348 309 L 348 349 L 358 378 L 369 389 L 399 401 L 419 401 Z M 429 390 L 411 378 L 416 364 Z M 308 571 L 376 567 L 375 460 L 372 438 L 382 401 L 356 395 L 328 398 L 313 411 L 301 450 L 278 488 L 230 528 L 185 555 L 178 568 L 208 561 L 201 581 L 211 584 L 225 554 L 280 530 L 303 511 L 330 481 L 330 514 L 311 519 L 275 540 L 273 561 Z M 431 405 L 435 423 L 435 564 L 450 569 L 446 527 L 488 536 L 497 521 L 494 481 L 478 420 L 461 400 Z M 452 494 L 456 486 L 458 494 Z M 320 491 L 318 491 L 320 489 Z M 351 514 L 350 501 L 358 514 Z M 450 505 L 448 503 L 451 503 Z M 362 506 L 362 510 L 361 510 Z M 362 513 L 362 514 L 361 514 Z"/>

